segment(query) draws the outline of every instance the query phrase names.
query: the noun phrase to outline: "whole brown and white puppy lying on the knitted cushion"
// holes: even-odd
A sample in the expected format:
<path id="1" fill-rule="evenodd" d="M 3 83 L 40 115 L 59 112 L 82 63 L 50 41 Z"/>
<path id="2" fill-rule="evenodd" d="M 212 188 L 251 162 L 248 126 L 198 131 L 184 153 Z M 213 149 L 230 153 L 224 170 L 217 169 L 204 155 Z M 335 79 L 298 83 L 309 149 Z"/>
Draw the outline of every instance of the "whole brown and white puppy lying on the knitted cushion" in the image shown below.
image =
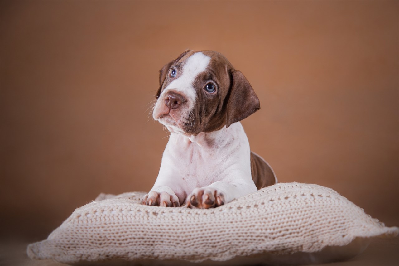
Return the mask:
<path id="1" fill-rule="evenodd" d="M 159 83 L 153 118 L 171 134 L 142 204 L 211 208 L 277 182 L 239 123 L 259 99 L 222 54 L 186 50 L 162 67 Z"/>

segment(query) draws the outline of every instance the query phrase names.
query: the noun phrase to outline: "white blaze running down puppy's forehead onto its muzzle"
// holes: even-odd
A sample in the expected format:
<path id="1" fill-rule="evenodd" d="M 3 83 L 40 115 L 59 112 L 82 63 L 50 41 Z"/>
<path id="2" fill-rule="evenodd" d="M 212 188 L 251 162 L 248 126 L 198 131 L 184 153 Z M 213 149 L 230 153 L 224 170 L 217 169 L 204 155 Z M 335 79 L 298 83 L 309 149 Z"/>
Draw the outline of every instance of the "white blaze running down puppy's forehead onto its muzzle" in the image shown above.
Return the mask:
<path id="1" fill-rule="evenodd" d="M 201 52 L 195 53 L 190 56 L 184 63 L 181 69 L 178 69 L 180 73 L 177 73 L 178 78 L 174 79 L 161 93 L 154 109 L 153 117 L 158 120 L 160 109 L 164 104 L 164 97 L 168 91 L 179 93 L 186 99 L 184 106 L 179 107 L 178 114 L 172 115 L 176 123 L 182 125 L 188 117 L 188 114 L 194 109 L 196 101 L 196 90 L 194 88 L 194 81 L 197 75 L 204 72 L 209 65 L 211 58 L 205 56 Z M 169 73 L 168 73 L 169 75 Z M 176 109 L 177 111 L 177 109 Z M 175 111 L 174 111 L 175 112 Z M 177 117 L 177 115 L 179 117 Z M 165 122 L 160 121 L 165 124 Z"/>

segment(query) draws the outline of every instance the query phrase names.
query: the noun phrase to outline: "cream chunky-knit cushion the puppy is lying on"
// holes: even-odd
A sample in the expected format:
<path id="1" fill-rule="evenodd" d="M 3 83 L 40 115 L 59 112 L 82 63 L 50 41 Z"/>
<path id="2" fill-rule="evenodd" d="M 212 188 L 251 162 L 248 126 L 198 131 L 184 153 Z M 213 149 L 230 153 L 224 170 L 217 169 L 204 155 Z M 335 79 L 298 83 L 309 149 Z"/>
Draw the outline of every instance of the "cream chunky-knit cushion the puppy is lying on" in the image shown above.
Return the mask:
<path id="1" fill-rule="evenodd" d="M 95 265 L 321 263 L 399 232 L 318 185 L 280 183 L 208 210 L 141 205 L 143 195 L 100 195 L 30 244 L 29 257 Z"/>

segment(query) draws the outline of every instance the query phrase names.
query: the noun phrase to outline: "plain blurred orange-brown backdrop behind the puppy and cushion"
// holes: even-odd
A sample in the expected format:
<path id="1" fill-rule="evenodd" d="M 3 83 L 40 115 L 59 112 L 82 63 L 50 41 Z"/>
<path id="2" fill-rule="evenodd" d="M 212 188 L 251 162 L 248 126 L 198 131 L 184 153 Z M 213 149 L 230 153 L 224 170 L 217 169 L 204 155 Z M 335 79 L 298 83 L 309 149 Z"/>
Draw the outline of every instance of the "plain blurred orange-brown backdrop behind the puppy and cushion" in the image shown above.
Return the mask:
<path id="1" fill-rule="evenodd" d="M 99 193 L 148 191 L 158 70 L 217 50 L 261 100 L 242 123 L 280 182 L 399 225 L 398 1 L 2 1 L 4 238 L 45 238 Z"/>

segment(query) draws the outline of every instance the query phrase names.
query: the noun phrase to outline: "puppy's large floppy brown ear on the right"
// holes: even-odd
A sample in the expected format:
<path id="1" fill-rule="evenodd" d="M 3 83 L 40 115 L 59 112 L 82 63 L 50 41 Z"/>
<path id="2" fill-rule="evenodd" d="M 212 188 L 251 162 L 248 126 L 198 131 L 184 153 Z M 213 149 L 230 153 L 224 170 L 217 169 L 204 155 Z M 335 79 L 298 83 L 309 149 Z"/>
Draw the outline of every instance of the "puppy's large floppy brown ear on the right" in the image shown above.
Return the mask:
<path id="1" fill-rule="evenodd" d="M 233 71 L 231 76 L 233 84 L 227 101 L 226 127 L 249 117 L 249 115 L 261 109 L 258 96 L 243 73 L 241 71 Z"/>

